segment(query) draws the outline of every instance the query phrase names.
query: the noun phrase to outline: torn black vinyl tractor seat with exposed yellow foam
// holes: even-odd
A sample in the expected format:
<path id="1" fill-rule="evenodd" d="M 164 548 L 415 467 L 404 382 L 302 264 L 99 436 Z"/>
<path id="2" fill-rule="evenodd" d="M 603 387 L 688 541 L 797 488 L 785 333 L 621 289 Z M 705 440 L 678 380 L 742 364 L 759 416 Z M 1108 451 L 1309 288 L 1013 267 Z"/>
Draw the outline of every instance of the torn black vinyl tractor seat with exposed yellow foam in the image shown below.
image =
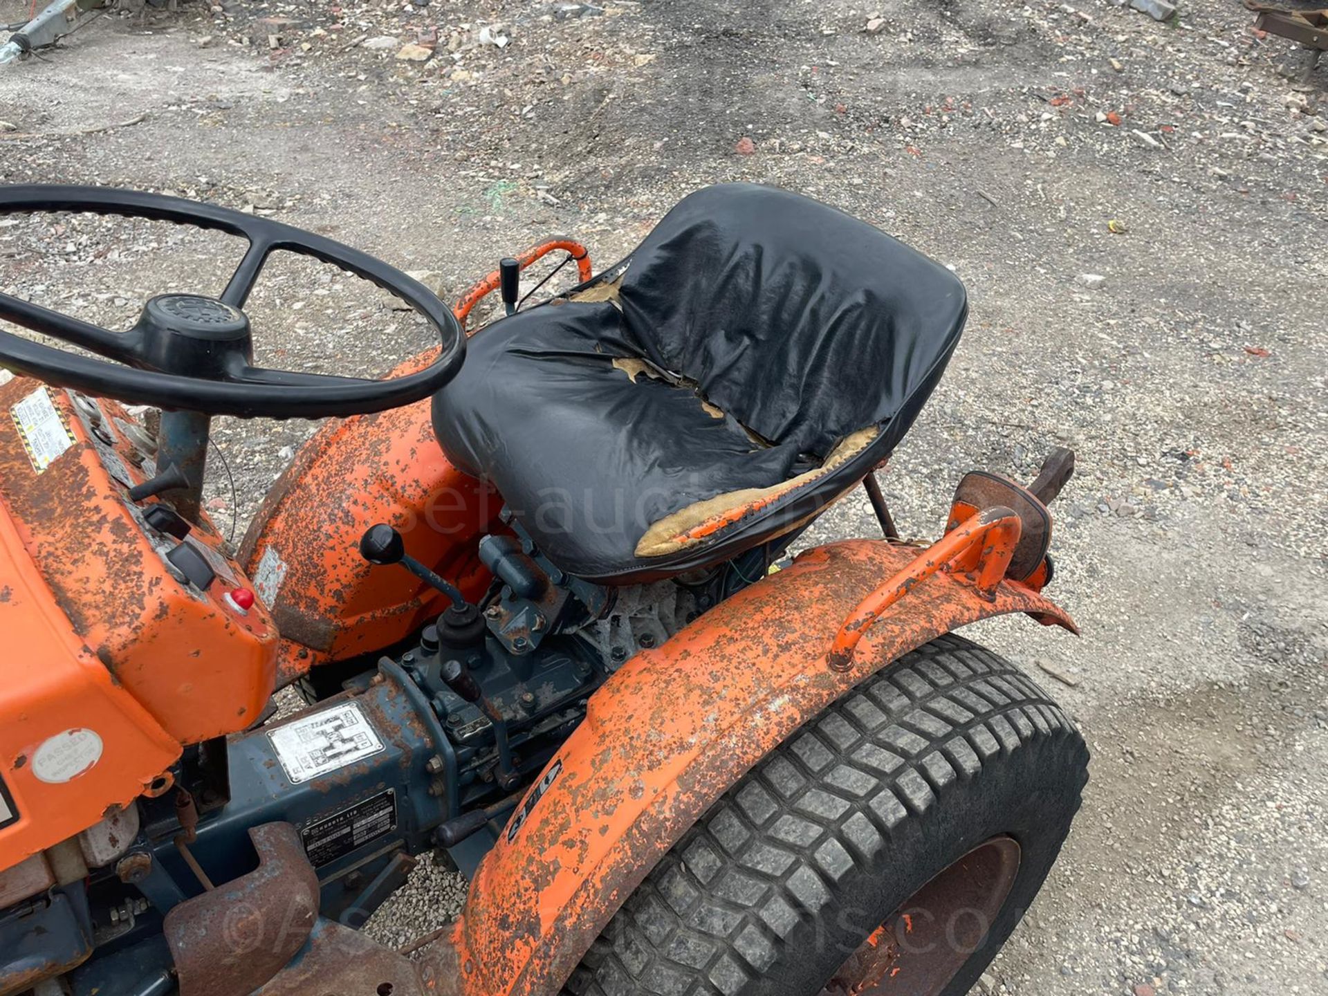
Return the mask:
<path id="1" fill-rule="evenodd" d="M 618 266 L 477 332 L 434 430 L 564 571 L 657 580 L 854 487 L 918 417 L 965 313 L 954 274 L 865 222 L 706 187 Z"/>

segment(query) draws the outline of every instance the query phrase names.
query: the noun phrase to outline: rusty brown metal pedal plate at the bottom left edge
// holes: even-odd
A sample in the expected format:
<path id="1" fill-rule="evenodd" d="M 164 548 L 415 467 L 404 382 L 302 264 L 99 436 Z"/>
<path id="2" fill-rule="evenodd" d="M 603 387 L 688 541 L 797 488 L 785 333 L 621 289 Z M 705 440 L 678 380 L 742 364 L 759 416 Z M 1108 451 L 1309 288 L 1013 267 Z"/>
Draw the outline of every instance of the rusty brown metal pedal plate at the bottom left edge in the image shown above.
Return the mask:
<path id="1" fill-rule="evenodd" d="M 250 830 L 258 869 L 166 914 L 181 996 L 247 996 L 304 947 L 319 916 L 319 876 L 290 823 Z"/>

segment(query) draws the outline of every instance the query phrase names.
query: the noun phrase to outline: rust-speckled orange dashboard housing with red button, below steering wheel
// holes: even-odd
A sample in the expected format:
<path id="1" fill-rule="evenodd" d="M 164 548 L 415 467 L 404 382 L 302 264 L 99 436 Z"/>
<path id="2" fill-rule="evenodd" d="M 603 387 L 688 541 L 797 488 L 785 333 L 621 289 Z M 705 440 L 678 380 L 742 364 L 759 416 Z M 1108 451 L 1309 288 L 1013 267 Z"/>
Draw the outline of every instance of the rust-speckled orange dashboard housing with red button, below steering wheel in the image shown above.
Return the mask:
<path id="1" fill-rule="evenodd" d="M 205 517 L 187 542 L 212 559 L 218 580 L 202 594 L 177 582 L 162 555 L 177 540 L 149 538 L 127 487 L 108 470 L 114 463 L 131 483 L 146 477 L 116 425 L 127 421 L 124 409 L 100 402 L 102 457 L 69 392 L 16 378 L 0 388 L 0 412 L 36 390 L 46 392 L 73 442 L 37 473 L 13 421 L 0 420 L 0 501 L 72 632 L 178 744 L 244 729 L 272 695 L 278 639 L 260 606 L 243 615 L 224 602 L 248 580 Z M 21 645 L 12 652 L 25 655 Z"/>

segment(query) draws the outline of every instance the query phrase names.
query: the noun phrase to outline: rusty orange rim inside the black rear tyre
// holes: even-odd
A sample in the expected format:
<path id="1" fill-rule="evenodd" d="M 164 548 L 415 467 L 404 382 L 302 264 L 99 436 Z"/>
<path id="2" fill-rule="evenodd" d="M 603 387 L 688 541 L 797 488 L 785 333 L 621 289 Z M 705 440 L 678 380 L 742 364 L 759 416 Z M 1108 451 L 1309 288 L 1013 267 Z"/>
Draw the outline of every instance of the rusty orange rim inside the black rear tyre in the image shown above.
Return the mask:
<path id="1" fill-rule="evenodd" d="M 1019 843 L 995 837 L 904 900 L 821 996 L 936 996 L 981 946 L 1019 875 Z"/>

